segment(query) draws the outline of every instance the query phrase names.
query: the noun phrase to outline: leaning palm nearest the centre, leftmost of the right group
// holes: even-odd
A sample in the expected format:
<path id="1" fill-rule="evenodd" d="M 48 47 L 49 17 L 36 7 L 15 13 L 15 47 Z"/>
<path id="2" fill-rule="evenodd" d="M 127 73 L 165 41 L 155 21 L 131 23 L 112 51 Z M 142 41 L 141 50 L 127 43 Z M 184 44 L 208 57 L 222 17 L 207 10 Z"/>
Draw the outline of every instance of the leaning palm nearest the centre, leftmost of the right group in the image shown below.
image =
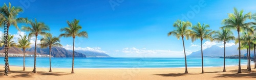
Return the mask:
<path id="1" fill-rule="evenodd" d="M 186 52 L 185 52 L 185 45 L 184 45 L 184 37 L 186 37 L 186 39 L 189 38 L 189 34 L 190 34 L 191 30 L 188 30 L 188 27 L 191 27 L 192 23 L 189 21 L 184 22 L 184 21 L 181 21 L 178 19 L 176 22 L 174 22 L 173 26 L 174 26 L 174 28 L 176 28 L 176 30 L 169 32 L 168 36 L 173 35 L 178 39 L 180 39 L 180 37 L 182 38 L 184 56 L 185 56 L 185 73 L 188 73 L 187 59 L 186 59 Z"/>

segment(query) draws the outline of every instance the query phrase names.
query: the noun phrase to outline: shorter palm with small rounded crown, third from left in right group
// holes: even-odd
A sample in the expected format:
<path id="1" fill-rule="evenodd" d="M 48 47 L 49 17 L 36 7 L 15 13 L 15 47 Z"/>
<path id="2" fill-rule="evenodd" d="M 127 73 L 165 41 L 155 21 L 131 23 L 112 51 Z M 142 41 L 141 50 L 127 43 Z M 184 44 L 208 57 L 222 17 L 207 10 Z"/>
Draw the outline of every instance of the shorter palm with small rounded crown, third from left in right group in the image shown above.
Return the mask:
<path id="1" fill-rule="evenodd" d="M 230 30 L 226 30 L 226 29 L 223 29 L 222 31 L 218 31 L 216 33 L 216 35 L 212 38 L 214 38 L 213 39 L 214 41 L 218 41 L 218 42 L 223 41 L 223 44 L 224 44 L 224 68 L 223 68 L 223 72 L 226 72 L 226 68 L 225 68 L 226 42 L 228 42 L 230 40 L 234 40 L 236 38 L 233 36 L 233 33 Z"/>

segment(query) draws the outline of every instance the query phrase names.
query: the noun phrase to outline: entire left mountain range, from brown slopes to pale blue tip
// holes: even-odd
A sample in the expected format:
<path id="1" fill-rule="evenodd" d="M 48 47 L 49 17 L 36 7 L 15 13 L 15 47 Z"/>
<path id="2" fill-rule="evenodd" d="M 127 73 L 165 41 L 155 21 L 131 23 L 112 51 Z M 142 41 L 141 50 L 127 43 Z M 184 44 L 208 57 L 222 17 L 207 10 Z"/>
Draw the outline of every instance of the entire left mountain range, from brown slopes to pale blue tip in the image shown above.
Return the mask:
<path id="1" fill-rule="evenodd" d="M 0 47 L 0 53 L 4 52 L 4 46 Z M 86 58 L 86 57 L 110 57 L 109 55 L 103 53 L 103 52 L 96 52 L 96 51 L 83 51 L 83 50 L 75 50 L 75 57 L 79 58 Z M 11 47 L 8 49 L 8 53 L 13 54 L 23 54 L 23 50 L 16 47 Z M 34 47 L 26 49 L 27 55 L 34 55 Z M 49 47 L 47 48 L 36 48 L 36 54 L 37 55 L 49 55 Z M 51 49 L 51 56 L 57 57 L 57 58 L 68 58 L 72 57 L 72 50 L 67 50 L 62 47 L 52 47 Z"/>

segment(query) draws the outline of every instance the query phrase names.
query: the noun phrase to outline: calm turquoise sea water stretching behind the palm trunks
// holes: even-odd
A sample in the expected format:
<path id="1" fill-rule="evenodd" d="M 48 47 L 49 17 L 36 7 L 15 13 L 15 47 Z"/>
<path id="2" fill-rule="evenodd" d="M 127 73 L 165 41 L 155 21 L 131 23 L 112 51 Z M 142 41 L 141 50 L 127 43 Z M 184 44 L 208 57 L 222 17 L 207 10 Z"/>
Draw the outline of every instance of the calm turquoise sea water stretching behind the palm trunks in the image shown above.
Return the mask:
<path id="1" fill-rule="evenodd" d="M 0 57 L 4 65 L 4 57 Z M 22 57 L 9 58 L 10 66 L 23 66 Z M 33 67 L 34 58 L 26 58 L 26 67 Z M 247 60 L 241 60 L 247 64 Z M 238 59 L 226 59 L 226 65 L 238 65 Z M 36 58 L 37 67 L 49 67 L 49 58 Z M 188 67 L 201 67 L 201 58 L 187 58 Z M 204 58 L 205 67 L 223 66 L 223 59 Z M 71 68 L 72 58 L 52 58 L 53 68 Z M 184 58 L 75 58 L 75 68 L 177 68 L 185 67 Z"/>

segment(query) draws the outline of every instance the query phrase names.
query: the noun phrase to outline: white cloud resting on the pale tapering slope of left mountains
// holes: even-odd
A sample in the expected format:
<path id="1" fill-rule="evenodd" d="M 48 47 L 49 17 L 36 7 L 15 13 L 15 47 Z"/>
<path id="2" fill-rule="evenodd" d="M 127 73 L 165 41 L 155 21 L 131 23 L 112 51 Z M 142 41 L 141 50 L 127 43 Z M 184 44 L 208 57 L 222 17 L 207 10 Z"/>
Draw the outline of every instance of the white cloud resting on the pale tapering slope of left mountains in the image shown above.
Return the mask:
<path id="1" fill-rule="evenodd" d="M 62 46 L 63 48 L 65 49 L 68 49 L 68 50 L 73 50 L 73 46 L 72 45 L 65 45 L 65 46 Z M 97 52 L 103 52 L 103 53 L 106 53 L 106 51 L 103 51 L 101 50 L 100 47 L 75 47 L 75 50 L 88 50 L 88 51 L 97 51 Z"/>

